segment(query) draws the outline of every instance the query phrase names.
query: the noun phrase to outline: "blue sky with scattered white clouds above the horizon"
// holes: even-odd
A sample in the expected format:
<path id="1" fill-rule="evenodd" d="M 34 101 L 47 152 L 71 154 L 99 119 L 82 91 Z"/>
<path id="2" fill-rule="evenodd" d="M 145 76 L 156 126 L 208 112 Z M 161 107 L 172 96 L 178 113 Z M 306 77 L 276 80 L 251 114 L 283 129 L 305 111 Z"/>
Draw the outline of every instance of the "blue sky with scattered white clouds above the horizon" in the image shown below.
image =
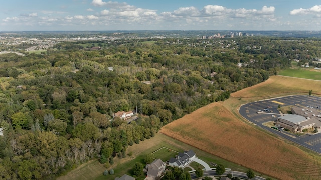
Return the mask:
<path id="1" fill-rule="evenodd" d="M 1 1 L 0 31 L 33 30 L 321 30 L 321 1 Z"/>

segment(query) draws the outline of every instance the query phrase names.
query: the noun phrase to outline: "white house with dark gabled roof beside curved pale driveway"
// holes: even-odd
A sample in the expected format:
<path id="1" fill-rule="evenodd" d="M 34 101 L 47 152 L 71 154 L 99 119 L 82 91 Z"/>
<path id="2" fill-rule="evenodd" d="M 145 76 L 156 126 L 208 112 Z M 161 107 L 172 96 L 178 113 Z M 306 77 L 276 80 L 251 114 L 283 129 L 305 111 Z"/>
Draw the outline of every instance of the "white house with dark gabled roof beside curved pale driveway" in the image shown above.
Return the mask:
<path id="1" fill-rule="evenodd" d="M 184 168 L 194 157 L 195 153 L 193 150 L 184 151 L 183 153 L 179 153 L 176 158 L 171 158 L 169 165 Z"/>

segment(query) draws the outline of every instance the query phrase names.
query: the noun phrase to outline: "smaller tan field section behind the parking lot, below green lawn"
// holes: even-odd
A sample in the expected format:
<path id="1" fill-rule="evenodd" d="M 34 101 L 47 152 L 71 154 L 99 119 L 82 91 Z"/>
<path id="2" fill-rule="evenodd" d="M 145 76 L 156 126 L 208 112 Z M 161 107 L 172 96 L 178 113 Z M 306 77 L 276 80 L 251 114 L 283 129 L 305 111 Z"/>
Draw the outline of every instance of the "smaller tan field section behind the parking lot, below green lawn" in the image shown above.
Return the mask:
<path id="1" fill-rule="evenodd" d="M 270 97 L 284 93 L 306 93 L 321 95 L 321 81 L 293 78 L 286 76 L 271 76 L 263 83 L 248 87 L 231 94 L 231 97 Z"/>

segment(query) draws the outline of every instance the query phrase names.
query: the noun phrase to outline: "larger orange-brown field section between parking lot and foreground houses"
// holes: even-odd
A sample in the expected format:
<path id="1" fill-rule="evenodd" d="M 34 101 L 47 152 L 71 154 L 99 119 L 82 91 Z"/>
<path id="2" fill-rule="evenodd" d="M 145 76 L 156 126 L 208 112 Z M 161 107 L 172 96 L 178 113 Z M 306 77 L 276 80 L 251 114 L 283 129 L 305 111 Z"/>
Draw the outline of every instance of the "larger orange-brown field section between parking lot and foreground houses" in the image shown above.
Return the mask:
<path id="1" fill-rule="evenodd" d="M 164 126 L 160 132 L 278 179 L 321 179 L 318 155 L 244 123 L 225 103 L 200 108 Z"/>

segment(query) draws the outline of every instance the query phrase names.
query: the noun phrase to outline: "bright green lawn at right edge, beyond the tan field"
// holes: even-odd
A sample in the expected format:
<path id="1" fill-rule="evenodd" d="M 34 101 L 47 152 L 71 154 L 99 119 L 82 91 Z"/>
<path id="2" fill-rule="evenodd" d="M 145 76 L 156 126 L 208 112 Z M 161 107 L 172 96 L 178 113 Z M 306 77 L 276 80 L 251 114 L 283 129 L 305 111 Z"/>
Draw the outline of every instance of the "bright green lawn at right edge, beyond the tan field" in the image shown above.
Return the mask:
<path id="1" fill-rule="evenodd" d="M 302 69 L 285 69 L 279 72 L 279 75 L 291 76 L 296 78 L 314 79 L 321 80 L 321 71 L 309 71 Z"/>

